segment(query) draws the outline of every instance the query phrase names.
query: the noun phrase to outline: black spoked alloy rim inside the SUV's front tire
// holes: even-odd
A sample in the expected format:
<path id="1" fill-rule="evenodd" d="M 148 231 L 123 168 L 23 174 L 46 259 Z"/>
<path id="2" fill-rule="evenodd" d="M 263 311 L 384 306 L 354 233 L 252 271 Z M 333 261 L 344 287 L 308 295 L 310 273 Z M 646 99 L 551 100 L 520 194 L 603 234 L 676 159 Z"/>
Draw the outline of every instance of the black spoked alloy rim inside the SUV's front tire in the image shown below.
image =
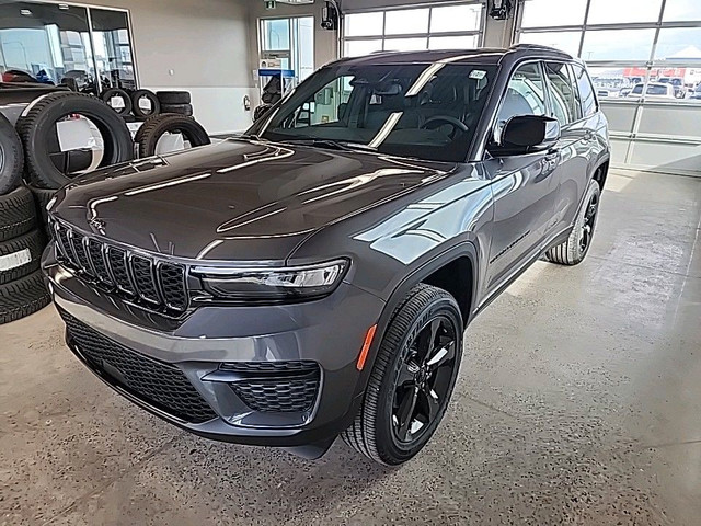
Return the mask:
<path id="1" fill-rule="evenodd" d="M 450 395 L 456 330 L 447 317 L 440 316 L 426 323 L 409 344 L 392 402 L 393 438 L 400 446 L 421 441 Z"/>

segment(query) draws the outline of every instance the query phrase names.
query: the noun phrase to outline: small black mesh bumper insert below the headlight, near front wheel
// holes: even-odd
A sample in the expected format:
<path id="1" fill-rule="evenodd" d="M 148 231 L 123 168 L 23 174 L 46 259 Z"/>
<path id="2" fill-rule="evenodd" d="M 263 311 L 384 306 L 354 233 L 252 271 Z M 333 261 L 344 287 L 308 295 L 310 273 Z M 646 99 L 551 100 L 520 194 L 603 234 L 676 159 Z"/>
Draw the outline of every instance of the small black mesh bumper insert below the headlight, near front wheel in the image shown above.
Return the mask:
<path id="1" fill-rule="evenodd" d="M 241 374 L 231 389 L 254 411 L 307 412 L 314 407 L 321 377 L 315 362 L 245 362 L 221 368 Z"/>

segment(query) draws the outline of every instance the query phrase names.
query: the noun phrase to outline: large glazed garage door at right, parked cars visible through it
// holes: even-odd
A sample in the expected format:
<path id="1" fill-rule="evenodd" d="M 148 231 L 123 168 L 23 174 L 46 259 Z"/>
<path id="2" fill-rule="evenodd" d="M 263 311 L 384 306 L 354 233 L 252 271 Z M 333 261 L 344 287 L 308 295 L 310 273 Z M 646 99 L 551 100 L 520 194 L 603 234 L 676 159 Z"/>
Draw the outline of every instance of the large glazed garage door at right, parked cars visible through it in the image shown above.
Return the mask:
<path id="1" fill-rule="evenodd" d="M 699 0 L 521 0 L 516 38 L 589 65 L 614 164 L 701 175 Z"/>

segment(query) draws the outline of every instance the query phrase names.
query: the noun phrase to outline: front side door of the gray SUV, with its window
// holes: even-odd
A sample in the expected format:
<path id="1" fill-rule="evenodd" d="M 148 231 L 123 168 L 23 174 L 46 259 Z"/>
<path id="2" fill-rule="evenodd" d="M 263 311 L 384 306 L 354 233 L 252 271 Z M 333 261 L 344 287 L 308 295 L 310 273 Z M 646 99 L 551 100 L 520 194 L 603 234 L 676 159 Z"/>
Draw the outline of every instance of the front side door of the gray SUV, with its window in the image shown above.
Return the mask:
<path id="1" fill-rule="evenodd" d="M 495 137 L 516 115 L 547 115 L 545 82 L 540 62 L 527 62 L 513 73 L 497 114 Z M 540 251 L 553 230 L 556 151 L 498 157 L 485 161 L 492 176 L 494 224 L 486 275 L 486 294 L 508 282 Z M 487 147 L 490 151 L 490 147 Z"/>

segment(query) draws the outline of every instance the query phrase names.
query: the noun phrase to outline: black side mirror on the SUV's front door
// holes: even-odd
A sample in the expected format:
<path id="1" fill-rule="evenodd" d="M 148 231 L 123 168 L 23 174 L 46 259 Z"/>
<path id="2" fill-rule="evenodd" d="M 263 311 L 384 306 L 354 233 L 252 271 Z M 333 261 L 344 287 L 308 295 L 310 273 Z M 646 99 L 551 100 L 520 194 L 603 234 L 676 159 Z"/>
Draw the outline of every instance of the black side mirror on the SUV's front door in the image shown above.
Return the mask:
<path id="1" fill-rule="evenodd" d="M 556 118 L 541 115 L 517 115 L 502 130 L 499 150 L 509 155 L 532 153 L 553 147 L 560 139 Z"/>

